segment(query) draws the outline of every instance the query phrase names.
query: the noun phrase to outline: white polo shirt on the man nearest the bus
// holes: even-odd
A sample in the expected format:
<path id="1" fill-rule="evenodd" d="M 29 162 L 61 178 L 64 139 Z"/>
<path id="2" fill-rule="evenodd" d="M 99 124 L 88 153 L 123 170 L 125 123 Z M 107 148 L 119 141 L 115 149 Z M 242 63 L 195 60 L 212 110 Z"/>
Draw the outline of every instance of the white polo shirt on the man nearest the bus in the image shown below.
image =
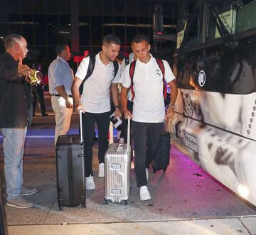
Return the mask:
<path id="1" fill-rule="evenodd" d="M 165 80 L 174 80 L 166 60 L 163 60 L 165 68 Z M 122 85 L 129 88 L 131 78 L 129 77 L 129 66 L 126 66 L 122 73 Z M 137 59 L 133 77 L 134 105 L 132 110 L 132 120 L 139 122 L 159 123 L 164 121 L 164 94 L 163 75 L 156 62 L 151 56 L 146 64 Z"/>

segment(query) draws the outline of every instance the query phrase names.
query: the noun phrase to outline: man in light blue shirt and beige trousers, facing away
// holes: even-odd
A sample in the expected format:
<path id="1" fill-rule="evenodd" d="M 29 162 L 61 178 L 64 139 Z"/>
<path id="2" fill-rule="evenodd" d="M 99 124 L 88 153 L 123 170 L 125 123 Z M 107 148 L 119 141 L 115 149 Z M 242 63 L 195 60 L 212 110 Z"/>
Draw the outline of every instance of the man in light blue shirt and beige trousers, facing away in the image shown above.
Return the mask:
<path id="1" fill-rule="evenodd" d="M 49 92 L 52 95 L 51 104 L 55 112 L 55 145 L 58 136 L 65 135 L 70 128 L 73 113 L 71 85 L 74 79 L 73 70 L 68 65 L 71 58 L 68 45 L 56 47 L 57 58 L 51 62 L 48 69 Z"/>

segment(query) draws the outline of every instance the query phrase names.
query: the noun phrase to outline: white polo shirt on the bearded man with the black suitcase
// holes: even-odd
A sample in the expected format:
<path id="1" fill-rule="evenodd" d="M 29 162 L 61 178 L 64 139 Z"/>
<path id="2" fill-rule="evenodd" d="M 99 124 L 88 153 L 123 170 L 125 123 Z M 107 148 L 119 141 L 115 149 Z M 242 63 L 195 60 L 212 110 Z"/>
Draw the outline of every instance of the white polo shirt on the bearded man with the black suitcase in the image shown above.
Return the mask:
<path id="1" fill-rule="evenodd" d="M 78 67 L 75 77 L 84 80 L 89 65 L 89 57 L 84 58 Z M 110 62 L 104 65 L 100 60 L 100 53 L 95 57 L 95 67 L 92 75 L 83 84 L 82 109 L 89 113 L 99 114 L 110 111 L 110 86 L 120 80 L 120 67 L 114 77 L 114 65 Z"/>

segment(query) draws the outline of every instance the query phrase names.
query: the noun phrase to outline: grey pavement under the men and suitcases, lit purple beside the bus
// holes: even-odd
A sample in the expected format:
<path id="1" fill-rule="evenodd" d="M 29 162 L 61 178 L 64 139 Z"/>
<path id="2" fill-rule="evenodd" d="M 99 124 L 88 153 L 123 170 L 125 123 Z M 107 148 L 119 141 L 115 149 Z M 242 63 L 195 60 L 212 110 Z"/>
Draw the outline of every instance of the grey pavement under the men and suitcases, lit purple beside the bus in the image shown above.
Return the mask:
<path id="1" fill-rule="evenodd" d="M 46 97 L 49 104 L 49 97 Z M 54 153 L 54 116 L 36 116 L 26 136 L 24 184 L 39 192 L 26 197 L 31 209 L 6 207 L 9 234 L 256 234 L 256 210 L 171 146 L 166 173 L 149 170 L 151 200 L 141 202 L 131 172 L 128 205 L 104 204 L 104 178 L 97 177 L 97 141 L 93 148 L 96 189 L 87 191 L 87 208 L 58 210 Z M 74 114 L 70 133 L 76 133 Z M 0 138 L 0 170 L 4 159 Z M 3 191 L 6 185 L 2 182 Z M 5 197 L 5 195 L 4 195 Z"/>

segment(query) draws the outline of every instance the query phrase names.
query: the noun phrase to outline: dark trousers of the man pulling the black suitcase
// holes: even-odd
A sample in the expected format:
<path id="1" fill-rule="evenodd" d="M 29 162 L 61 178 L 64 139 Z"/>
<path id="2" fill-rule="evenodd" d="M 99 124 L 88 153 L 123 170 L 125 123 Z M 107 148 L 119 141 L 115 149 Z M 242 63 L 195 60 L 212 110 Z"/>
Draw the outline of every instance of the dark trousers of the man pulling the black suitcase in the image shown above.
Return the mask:
<path id="1" fill-rule="evenodd" d="M 99 133 L 99 163 L 104 163 L 104 156 L 109 146 L 108 130 L 110 127 L 110 111 L 101 114 L 92 114 L 85 112 L 82 114 L 82 136 L 84 139 L 85 154 L 85 176 L 92 173 L 92 145 L 95 137 L 95 122 Z"/>

